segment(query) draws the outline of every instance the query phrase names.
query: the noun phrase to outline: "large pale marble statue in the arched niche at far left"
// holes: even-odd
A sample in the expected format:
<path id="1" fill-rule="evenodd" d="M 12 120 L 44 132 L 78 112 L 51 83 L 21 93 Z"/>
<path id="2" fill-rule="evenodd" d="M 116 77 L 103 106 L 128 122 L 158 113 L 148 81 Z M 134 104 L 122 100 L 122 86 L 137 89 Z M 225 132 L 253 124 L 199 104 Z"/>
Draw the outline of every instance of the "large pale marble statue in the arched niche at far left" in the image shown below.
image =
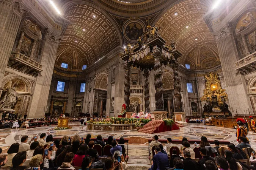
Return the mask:
<path id="1" fill-rule="evenodd" d="M 7 91 L 2 100 L 0 100 L 0 108 L 11 108 L 17 102 L 16 87 L 6 87 Z"/>

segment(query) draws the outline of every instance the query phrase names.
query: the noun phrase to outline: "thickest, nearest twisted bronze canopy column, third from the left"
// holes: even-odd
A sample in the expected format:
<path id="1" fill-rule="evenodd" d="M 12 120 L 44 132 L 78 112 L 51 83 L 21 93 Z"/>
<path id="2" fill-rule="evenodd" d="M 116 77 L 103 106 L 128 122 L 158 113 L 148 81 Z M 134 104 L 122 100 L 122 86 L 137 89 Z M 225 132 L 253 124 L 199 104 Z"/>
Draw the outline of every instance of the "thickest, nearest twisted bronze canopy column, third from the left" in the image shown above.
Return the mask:
<path id="1" fill-rule="evenodd" d="M 163 68 L 160 63 L 160 56 L 162 55 L 161 51 L 158 49 L 155 49 L 152 56 L 155 59 L 155 65 L 154 65 L 154 80 L 155 80 L 155 100 L 156 100 L 156 110 L 164 110 L 163 108 L 163 83 L 162 83 L 162 74 L 163 74 Z"/>

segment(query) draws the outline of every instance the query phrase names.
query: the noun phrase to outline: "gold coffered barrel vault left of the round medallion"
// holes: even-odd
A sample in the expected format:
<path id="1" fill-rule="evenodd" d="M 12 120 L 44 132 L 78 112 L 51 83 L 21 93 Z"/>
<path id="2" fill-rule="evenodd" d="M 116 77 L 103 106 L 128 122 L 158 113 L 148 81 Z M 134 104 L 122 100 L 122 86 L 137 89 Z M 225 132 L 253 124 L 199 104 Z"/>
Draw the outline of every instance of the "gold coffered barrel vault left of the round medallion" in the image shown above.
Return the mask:
<path id="1" fill-rule="evenodd" d="M 64 10 L 63 16 L 70 23 L 57 51 L 57 65 L 66 61 L 73 69 L 81 70 L 81 63 L 90 65 L 122 45 L 121 33 L 114 22 L 93 4 L 73 3 Z"/>

